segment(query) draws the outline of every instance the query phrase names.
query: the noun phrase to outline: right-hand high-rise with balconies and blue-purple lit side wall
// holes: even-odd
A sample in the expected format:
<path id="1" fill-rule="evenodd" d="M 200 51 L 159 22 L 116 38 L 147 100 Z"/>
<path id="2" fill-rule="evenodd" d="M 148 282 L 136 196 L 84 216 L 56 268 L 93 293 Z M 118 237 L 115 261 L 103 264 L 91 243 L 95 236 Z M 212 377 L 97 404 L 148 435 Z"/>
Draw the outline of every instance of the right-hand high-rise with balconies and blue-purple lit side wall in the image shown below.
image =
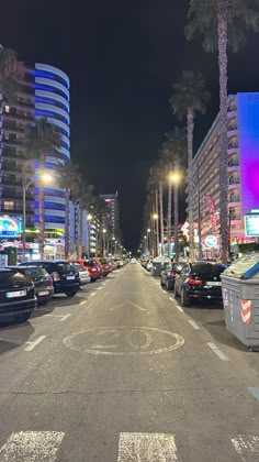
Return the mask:
<path id="1" fill-rule="evenodd" d="M 216 117 L 193 160 L 194 222 L 200 220 L 203 250 L 219 250 L 219 118 Z M 259 92 L 228 98 L 228 223 L 230 244 L 250 242 L 244 216 L 259 209 Z M 212 238 L 213 237 L 213 238 Z"/>

